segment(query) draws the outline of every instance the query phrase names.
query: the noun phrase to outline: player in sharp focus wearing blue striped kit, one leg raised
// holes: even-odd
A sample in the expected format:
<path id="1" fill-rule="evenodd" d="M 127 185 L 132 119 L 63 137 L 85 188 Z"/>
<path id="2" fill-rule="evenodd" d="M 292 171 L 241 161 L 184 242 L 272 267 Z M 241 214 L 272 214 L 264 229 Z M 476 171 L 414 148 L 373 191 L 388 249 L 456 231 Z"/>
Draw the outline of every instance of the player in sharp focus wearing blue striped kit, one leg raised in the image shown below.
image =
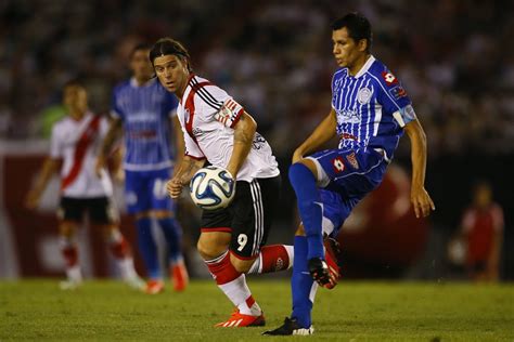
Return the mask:
<path id="1" fill-rule="evenodd" d="M 313 332 L 318 284 L 330 288 L 336 281 L 323 258 L 323 235 L 335 236 L 352 208 L 382 182 L 403 132 L 411 142 L 415 214 L 426 216 L 435 209 L 424 187 L 425 133 L 398 79 L 371 55 L 369 21 L 357 13 L 336 19 L 332 41 L 340 67 L 332 80 L 332 109 L 295 150 L 290 169 L 303 221 L 294 245 L 293 313 L 265 334 Z M 336 134 L 337 148 L 311 154 Z"/>

